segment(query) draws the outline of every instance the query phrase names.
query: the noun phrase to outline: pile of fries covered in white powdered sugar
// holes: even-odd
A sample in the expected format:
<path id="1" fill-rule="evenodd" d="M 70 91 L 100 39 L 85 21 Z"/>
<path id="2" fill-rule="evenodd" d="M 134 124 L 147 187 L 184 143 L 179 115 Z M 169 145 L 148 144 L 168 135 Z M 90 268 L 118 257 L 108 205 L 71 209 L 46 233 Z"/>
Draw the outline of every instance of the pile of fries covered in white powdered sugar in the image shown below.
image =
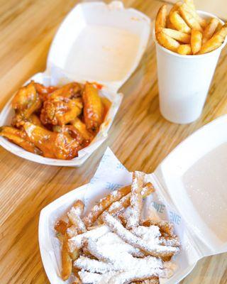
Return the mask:
<path id="1" fill-rule="evenodd" d="M 74 284 L 158 284 L 160 278 L 170 278 L 174 271 L 169 261 L 180 246 L 173 226 L 141 217 L 143 199 L 154 191 L 144 173 L 134 172 L 131 185 L 111 192 L 85 215 L 77 200 L 55 224 L 62 279 Z"/>

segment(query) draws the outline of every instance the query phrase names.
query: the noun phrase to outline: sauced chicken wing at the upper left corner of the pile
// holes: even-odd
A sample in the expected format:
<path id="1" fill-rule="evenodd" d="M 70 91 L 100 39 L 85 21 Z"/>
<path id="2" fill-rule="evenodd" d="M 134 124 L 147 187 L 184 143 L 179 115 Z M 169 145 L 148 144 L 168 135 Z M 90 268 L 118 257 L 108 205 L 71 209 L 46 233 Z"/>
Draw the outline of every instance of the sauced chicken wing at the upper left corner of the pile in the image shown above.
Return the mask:
<path id="1" fill-rule="evenodd" d="M 38 111 L 41 105 L 42 102 L 33 81 L 25 87 L 21 87 L 13 97 L 12 102 L 13 109 L 19 111 L 25 119 L 28 119 L 33 112 Z"/>

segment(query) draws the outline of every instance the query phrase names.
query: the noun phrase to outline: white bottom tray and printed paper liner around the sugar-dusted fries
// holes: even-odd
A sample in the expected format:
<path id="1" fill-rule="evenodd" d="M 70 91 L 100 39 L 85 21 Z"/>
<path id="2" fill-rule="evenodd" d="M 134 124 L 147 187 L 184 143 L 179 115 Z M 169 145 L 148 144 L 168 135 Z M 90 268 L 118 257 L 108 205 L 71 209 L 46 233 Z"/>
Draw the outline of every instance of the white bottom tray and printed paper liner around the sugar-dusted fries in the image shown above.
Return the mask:
<path id="1" fill-rule="evenodd" d="M 60 244 L 55 237 L 54 230 L 57 219 L 65 214 L 67 209 L 70 209 L 75 200 L 83 200 L 85 211 L 87 211 L 100 200 L 101 197 L 104 197 L 104 195 L 107 195 L 112 190 L 116 190 L 123 185 L 131 184 L 131 178 L 131 173 L 126 170 L 114 153 L 108 148 L 89 184 L 67 193 L 42 210 L 39 222 L 39 243 L 43 265 L 50 283 L 71 283 L 70 280 L 64 282 L 59 276 L 61 268 Z M 153 182 L 156 192 L 145 200 L 144 217 L 148 217 L 150 214 L 154 216 L 155 214 L 157 218 L 172 222 L 175 227 L 175 233 L 182 242 L 181 253 L 175 256 L 173 260 L 177 267 L 175 275 L 169 280 L 162 279 L 160 281 L 160 283 L 174 284 L 192 271 L 199 256 L 194 247 L 194 242 L 184 226 L 182 217 L 177 212 L 177 209 L 170 207 L 167 200 L 162 197 L 159 185 L 155 181 L 153 174 L 146 175 L 146 180 Z"/>

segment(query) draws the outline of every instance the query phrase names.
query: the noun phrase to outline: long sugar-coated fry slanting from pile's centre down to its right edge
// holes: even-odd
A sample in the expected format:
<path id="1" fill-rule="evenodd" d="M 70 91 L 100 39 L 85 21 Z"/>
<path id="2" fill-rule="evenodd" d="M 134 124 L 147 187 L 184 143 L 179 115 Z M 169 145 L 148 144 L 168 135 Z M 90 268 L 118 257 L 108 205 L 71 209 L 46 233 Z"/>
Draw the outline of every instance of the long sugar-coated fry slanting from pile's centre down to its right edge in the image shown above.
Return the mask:
<path id="1" fill-rule="evenodd" d="M 175 253 L 179 252 L 179 248 L 172 246 L 160 246 L 160 245 L 150 245 L 147 244 L 142 239 L 138 238 L 131 231 L 128 231 L 117 219 L 112 217 L 109 213 L 104 212 L 104 223 L 109 226 L 111 231 L 114 231 L 118 236 L 124 241 L 141 251 L 145 251 L 150 256 L 162 257 L 162 256 L 173 256 Z"/>

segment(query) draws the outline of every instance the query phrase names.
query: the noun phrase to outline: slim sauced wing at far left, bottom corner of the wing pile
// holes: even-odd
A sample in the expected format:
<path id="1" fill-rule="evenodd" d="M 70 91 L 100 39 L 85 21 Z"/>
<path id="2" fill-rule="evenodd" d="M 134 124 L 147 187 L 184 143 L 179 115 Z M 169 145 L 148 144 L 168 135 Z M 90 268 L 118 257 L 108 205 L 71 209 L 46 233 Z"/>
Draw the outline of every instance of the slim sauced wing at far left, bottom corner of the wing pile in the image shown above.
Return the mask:
<path id="1" fill-rule="evenodd" d="M 41 155 L 42 152 L 35 147 L 34 143 L 29 141 L 28 136 L 23 130 L 15 129 L 11 126 L 2 126 L 0 127 L 0 136 L 8 138 L 10 141 L 15 143 L 18 146 L 21 146 L 28 152 Z"/>

